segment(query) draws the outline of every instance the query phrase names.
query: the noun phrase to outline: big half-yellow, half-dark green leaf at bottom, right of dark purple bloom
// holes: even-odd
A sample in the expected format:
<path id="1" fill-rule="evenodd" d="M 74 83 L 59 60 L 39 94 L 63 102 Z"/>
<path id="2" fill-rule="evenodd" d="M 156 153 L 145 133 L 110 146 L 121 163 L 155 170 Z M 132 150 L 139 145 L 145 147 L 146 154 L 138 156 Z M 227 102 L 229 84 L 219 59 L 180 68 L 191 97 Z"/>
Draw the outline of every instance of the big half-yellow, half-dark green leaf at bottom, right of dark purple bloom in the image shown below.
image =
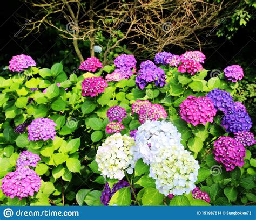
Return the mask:
<path id="1" fill-rule="evenodd" d="M 124 187 L 119 189 L 112 196 L 109 205 L 130 205 L 131 204 L 131 188 Z"/>

